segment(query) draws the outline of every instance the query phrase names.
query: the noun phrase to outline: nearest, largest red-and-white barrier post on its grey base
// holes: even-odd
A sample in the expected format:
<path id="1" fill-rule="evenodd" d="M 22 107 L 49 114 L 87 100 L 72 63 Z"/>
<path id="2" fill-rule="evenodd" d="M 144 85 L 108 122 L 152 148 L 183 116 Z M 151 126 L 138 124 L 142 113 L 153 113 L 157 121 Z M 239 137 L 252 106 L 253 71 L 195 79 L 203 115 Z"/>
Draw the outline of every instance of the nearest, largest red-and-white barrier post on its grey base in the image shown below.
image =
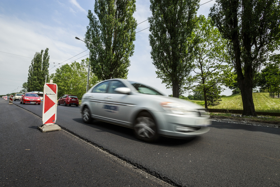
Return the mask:
<path id="1" fill-rule="evenodd" d="M 57 131 L 61 128 L 54 124 L 56 121 L 56 103 L 57 103 L 57 85 L 53 84 L 53 80 L 50 83 L 44 85 L 44 98 L 43 98 L 43 125 L 38 126 L 38 129 L 42 132 Z"/>

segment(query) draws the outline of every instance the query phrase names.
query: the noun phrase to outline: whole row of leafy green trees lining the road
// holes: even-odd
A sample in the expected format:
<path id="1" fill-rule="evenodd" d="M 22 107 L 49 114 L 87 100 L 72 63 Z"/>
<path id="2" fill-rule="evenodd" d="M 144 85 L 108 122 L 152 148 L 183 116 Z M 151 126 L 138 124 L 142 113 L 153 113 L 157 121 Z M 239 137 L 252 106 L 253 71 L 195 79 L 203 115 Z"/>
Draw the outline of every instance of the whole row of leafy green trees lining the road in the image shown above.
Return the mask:
<path id="1" fill-rule="evenodd" d="M 197 16 L 197 0 L 150 0 L 150 3 L 152 64 L 157 77 L 172 89 L 173 97 L 190 90 L 201 92 L 207 108 L 218 102 L 224 85 L 241 94 L 243 115 L 256 116 L 253 89 L 259 86 L 262 91 L 279 92 L 279 55 L 274 53 L 280 46 L 278 1 L 216 0 L 208 17 Z M 94 13 L 88 11 L 85 43 L 91 51 L 92 83 L 127 79 L 129 57 L 136 40 L 135 11 L 135 0 L 96 0 Z M 40 65 L 37 67 L 35 61 L 41 59 L 43 64 L 46 59 L 42 52 L 35 56 L 29 73 L 34 77 L 44 72 L 43 66 L 39 70 Z M 263 65 L 265 68 L 261 70 Z M 82 75 L 72 81 L 68 76 L 71 73 L 63 72 L 85 67 L 76 62 L 62 67 L 51 76 L 61 84 L 61 90 L 63 84 L 82 88 L 74 81 Z M 38 82 L 42 80 L 32 80 L 37 82 L 27 81 L 28 86 L 40 88 Z"/>

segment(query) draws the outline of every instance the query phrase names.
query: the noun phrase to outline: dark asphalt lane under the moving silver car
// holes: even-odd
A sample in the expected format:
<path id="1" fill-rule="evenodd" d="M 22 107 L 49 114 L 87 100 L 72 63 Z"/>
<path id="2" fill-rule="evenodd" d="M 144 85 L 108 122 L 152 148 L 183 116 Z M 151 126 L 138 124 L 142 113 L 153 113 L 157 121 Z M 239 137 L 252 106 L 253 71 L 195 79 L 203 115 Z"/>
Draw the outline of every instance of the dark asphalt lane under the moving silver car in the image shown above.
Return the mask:
<path id="1" fill-rule="evenodd" d="M 42 116 L 42 105 L 19 103 Z M 56 124 L 175 186 L 280 186 L 279 128 L 213 122 L 193 140 L 150 144 L 125 127 L 84 124 L 74 106 L 58 106 Z"/>

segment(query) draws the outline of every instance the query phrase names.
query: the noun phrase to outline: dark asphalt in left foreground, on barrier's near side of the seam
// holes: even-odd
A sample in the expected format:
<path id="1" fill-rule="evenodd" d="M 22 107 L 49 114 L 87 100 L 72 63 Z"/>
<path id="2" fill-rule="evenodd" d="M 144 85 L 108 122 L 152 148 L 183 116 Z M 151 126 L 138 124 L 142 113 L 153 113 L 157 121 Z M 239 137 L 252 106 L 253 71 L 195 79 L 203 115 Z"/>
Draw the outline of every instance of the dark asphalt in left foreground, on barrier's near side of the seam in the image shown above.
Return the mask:
<path id="1" fill-rule="evenodd" d="M 0 121 L 0 186 L 168 186 L 2 99 Z"/>

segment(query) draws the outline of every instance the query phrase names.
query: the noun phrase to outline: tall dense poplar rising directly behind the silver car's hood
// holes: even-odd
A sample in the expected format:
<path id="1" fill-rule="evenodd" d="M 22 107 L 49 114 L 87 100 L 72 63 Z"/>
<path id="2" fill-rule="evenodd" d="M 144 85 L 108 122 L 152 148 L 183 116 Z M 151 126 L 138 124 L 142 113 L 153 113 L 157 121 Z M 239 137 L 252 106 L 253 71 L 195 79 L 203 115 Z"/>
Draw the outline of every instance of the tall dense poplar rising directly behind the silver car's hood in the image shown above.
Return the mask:
<path id="1" fill-rule="evenodd" d="M 179 97 L 187 89 L 185 79 L 192 70 L 195 43 L 193 29 L 198 10 L 197 0 L 150 0 L 152 16 L 149 41 L 152 63 L 157 77 L 173 97 Z"/>

